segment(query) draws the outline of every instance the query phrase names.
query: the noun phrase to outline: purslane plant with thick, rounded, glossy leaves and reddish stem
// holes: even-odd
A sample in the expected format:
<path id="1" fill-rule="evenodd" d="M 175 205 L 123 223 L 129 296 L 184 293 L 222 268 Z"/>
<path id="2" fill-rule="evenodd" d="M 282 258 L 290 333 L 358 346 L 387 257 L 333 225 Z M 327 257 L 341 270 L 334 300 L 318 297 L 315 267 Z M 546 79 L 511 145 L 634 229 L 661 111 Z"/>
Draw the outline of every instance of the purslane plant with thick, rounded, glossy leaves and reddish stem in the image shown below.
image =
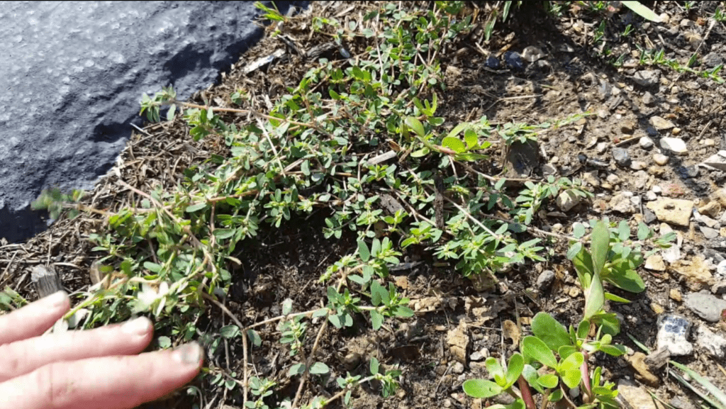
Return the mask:
<path id="1" fill-rule="evenodd" d="M 585 304 L 582 320 L 566 328 L 546 312 L 539 312 L 531 322 L 531 336 L 521 340 L 518 353 L 513 354 L 503 366 L 496 358 L 486 359 L 486 368 L 494 381 L 471 379 L 463 384 L 464 391 L 472 397 L 487 398 L 507 393 L 515 398 L 509 405 L 492 405 L 493 409 L 535 409 L 538 408 L 532 390 L 542 395 L 542 405 L 548 402 L 569 400 L 568 389 L 582 391 L 584 406 L 569 402 L 577 408 L 619 408 L 614 400 L 617 392 L 612 382 L 602 379 L 603 368 L 590 368 L 589 358 L 597 352 L 620 356 L 625 352 L 621 345 L 612 344 L 613 336 L 620 332 L 618 317 L 606 312 L 605 300 L 629 302 L 620 296 L 606 293 L 603 283 L 610 283 L 632 293 L 645 289 L 635 269 L 643 262 L 641 246 L 643 240 L 653 238 L 653 232 L 643 223 L 637 231 L 636 243 L 629 242 L 630 228 L 627 222 L 608 228 L 608 221 L 591 221 L 590 251 L 582 241 L 574 241 L 568 251 L 579 283 L 582 286 Z M 574 225 L 574 236 L 582 238 L 584 225 Z M 651 240 L 653 245 L 663 247 L 672 240 L 672 233 Z M 513 386 L 517 384 L 519 393 Z"/>

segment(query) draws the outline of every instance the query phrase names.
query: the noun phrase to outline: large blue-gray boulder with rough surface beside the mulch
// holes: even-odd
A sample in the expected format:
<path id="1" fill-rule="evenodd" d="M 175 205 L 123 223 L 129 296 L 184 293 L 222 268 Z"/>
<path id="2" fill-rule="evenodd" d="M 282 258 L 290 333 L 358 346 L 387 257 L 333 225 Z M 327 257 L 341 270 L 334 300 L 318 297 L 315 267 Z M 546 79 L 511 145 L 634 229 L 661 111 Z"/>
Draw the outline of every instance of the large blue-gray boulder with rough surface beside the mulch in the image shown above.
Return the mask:
<path id="1" fill-rule="evenodd" d="M 277 3 L 287 12 L 290 2 Z M 185 100 L 261 37 L 252 2 L 4 3 L 0 9 L 0 237 L 46 228 L 47 187 L 89 190 L 141 124 L 139 100 Z"/>

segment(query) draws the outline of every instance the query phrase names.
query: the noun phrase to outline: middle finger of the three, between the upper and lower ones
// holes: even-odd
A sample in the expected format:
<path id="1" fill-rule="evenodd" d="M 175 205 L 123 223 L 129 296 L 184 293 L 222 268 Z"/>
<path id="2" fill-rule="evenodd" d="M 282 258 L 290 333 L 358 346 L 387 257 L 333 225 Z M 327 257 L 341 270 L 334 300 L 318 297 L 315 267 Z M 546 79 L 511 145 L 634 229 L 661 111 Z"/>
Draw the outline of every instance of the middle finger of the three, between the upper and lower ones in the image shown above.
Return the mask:
<path id="1" fill-rule="evenodd" d="M 152 329 L 148 318 L 139 317 L 123 325 L 68 331 L 0 345 L 0 382 L 53 362 L 138 354 L 151 341 Z"/>

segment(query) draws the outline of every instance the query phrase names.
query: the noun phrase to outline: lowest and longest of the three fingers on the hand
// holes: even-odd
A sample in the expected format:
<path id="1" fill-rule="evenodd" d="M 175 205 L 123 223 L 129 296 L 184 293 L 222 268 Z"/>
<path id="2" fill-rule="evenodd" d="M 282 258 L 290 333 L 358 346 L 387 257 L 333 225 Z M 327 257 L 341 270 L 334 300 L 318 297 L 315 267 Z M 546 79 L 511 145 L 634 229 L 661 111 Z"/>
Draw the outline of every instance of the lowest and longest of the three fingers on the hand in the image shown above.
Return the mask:
<path id="1" fill-rule="evenodd" d="M 0 409 L 134 408 L 191 381 L 202 360 L 201 347 L 192 343 L 175 351 L 52 363 L 0 384 Z"/>

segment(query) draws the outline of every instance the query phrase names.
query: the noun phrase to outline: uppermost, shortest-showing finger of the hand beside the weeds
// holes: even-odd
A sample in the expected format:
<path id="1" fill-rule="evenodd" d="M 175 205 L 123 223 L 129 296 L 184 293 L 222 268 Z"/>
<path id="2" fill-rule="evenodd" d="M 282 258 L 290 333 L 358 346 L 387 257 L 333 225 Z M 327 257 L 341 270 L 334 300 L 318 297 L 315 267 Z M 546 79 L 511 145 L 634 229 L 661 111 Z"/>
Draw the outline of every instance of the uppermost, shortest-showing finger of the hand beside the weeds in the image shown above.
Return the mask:
<path id="1" fill-rule="evenodd" d="M 0 317 L 0 345 L 41 336 L 70 308 L 70 300 L 58 291 Z"/>

